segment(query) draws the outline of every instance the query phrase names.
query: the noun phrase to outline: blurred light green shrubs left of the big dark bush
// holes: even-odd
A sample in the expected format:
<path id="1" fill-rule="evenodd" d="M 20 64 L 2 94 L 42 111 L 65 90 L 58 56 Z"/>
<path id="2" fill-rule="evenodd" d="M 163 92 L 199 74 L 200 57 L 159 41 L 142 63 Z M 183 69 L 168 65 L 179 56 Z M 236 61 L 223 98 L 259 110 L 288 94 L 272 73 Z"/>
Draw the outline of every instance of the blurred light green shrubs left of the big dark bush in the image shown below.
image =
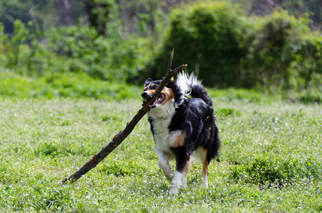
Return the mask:
<path id="1" fill-rule="evenodd" d="M 2 32 L 0 26 L 0 35 L 5 35 Z M 151 58 L 151 40 L 117 33 L 104 37 L 89 26 L 53 28 L 45 39 L 28 35 L 28 28 L 16 21 L 14 36 L 0 38 L 1 65 L 33 77 L 85 72 L 101 80 L 138 83 Z"/>

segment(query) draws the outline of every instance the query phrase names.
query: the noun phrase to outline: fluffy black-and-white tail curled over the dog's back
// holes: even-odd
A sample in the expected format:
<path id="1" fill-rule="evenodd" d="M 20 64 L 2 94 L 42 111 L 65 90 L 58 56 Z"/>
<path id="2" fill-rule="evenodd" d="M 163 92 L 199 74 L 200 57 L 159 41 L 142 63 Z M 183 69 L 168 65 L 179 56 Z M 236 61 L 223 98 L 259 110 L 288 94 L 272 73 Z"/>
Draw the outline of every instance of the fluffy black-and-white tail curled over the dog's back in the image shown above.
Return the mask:
<path id="1" fill-rule="evenodd" d="M 188 76 L 186 72 L 179 73 L 177 84 L 181 88 L 183 95 L 188 96 L 190 94 L 191 97 L 203 99 L 203 101 L 206 102 L 210 107 L 213 107 L 213 102 L 208 96 L 205 87 L 203 87 L 201 81 L 197 80 L 195 75 L 191 74 Z"/>

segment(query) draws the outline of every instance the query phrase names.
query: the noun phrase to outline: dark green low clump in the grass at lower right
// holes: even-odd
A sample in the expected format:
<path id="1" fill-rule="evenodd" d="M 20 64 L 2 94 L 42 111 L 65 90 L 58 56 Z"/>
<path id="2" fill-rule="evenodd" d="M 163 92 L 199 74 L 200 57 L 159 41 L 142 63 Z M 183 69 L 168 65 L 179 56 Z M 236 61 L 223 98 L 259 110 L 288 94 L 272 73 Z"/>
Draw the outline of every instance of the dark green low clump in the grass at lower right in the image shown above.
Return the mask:
<path id="1" fill-rule="evenodd" d="M 272 154 L 257 156 L 248 162 L 234 165 L 230 175 L 236 181 L 277 185 L 291 184 L 304 178 L 322 178 L 321 162 L 317 162 L 316 159 L 278 157 Z"/>

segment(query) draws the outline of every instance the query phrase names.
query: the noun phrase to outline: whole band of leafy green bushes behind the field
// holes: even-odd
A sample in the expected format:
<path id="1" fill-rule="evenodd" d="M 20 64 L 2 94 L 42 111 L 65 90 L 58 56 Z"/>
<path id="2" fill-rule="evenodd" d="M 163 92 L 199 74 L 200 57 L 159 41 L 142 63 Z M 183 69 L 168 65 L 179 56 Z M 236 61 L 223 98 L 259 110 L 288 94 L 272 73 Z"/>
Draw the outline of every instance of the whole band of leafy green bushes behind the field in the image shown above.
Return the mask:
<path id="1" fill-rule="evenodd" d="M 128 2 L 124 9 L 114 1 L 105 3 L 111 11 L 104 33 L 82 23 L 34 31 L 35 21 L 16 20 L 9 36 L 0 26 L 1 68 L 33 78 L 75 72 L 141 84 L 146 77 L 163 75 L 168 53 L 175 47 L 174 66 L 188 63 L 188 70 L 208 87 L 280 94 L 306 89 L 318 100 L 322 38 L 319 31 L 311 31 L 312 21 L 306 16 L 282 10 L 264 17 L 247 16 L 241 6 L 226 1 L 198 1 L 169 13 L 162 13 L 163 4 L 156 2 L 150 6 L 146 1 Z M 122 13 L 140 5 L 144 11 L 131 33 Z"/>

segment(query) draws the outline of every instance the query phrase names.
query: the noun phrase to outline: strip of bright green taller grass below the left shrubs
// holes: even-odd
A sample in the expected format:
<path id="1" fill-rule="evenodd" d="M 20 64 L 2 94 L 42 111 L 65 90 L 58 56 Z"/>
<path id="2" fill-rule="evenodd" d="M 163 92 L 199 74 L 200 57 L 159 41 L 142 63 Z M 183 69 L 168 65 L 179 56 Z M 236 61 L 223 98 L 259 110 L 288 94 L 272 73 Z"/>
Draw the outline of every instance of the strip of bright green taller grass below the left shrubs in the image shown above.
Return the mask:
<path id="1" fill-rule="evenodd" d="M 58 72 L 43 77 L 22 77 L 11 72 L 0 72 L 0 97 L 18 99 L 57 99 L 60 97 L 90 97 L 94 99 L 132 99 L 139 87 L 125 83 L 106 82 L 83 73 Z"/>

